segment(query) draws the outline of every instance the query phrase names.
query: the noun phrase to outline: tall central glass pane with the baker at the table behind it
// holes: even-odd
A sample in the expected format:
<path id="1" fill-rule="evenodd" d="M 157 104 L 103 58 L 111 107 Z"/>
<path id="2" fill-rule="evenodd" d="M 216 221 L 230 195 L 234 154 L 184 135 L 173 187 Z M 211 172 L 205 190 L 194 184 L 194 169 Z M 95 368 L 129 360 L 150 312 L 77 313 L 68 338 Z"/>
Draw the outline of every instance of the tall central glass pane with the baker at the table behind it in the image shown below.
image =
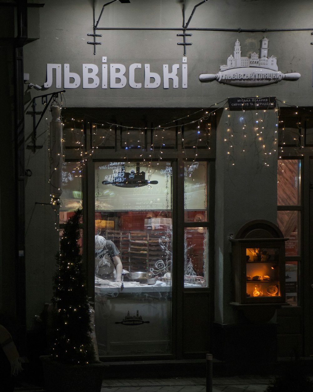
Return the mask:
<path id="1" fill-rule="evenodd" d="M 171 174 L 169 163 L 96 163 L 100 356 L 171 352 Z"/>

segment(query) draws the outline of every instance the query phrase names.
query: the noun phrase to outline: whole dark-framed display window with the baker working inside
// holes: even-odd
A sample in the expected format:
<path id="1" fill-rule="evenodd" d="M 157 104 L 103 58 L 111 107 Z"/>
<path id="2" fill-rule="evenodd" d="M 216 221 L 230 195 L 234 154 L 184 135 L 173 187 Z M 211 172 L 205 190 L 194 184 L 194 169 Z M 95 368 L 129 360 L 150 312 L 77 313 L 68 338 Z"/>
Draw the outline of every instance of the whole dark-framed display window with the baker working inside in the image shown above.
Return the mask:
<path id="1" fill-rule="evenodd" d="M 192 113 L 86 109 L 81 118 L 66 109 L 60 229 L 83 208 L 100 358 L 208 350 L 215 143 L 212 118 L 194 121 Z M 195 324 L 200 338 L 188 332 Z"/>

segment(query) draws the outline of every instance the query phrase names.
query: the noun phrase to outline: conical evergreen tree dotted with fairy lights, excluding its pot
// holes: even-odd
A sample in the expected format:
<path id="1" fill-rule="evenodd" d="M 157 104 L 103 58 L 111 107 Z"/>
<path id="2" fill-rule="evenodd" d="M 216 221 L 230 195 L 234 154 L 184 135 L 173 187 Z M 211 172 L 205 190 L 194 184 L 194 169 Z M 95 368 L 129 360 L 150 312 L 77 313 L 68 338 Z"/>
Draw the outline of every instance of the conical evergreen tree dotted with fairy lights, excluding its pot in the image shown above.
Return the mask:
<path id="1" fill-rule="evenodd" d="M 64 224 L 52 298 L 51 356 L 56 361 L 71 364 L 96 361 L 90 336 L 87 279 L 78 243 L 81 217 L 82 210 L 78 209 Z"/>

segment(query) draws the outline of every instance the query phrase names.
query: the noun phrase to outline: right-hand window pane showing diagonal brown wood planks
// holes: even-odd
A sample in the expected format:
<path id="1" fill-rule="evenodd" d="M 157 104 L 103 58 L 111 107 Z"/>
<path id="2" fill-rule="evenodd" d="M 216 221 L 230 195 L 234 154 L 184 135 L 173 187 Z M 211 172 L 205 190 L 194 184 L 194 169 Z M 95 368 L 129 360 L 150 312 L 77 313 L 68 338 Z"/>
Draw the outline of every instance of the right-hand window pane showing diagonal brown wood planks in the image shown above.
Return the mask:
<path id="1" fill-rule="evenodd" d="M 300 205 L 300 170 L 299 159 L 284 159 L 277 166 L 277 204 Z"/>

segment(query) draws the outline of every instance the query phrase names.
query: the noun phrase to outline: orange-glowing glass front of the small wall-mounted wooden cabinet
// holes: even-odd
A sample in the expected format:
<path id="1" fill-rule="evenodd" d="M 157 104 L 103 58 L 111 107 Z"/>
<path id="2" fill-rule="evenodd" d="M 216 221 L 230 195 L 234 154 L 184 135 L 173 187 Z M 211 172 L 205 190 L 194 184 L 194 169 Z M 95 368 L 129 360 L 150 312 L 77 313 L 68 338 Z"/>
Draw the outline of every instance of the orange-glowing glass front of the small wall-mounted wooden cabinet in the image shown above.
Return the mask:
<path id="1" fill-rule="evenodd" d="M 278 248 L 246 249 L 247 297 L 280 296 Z"/>

